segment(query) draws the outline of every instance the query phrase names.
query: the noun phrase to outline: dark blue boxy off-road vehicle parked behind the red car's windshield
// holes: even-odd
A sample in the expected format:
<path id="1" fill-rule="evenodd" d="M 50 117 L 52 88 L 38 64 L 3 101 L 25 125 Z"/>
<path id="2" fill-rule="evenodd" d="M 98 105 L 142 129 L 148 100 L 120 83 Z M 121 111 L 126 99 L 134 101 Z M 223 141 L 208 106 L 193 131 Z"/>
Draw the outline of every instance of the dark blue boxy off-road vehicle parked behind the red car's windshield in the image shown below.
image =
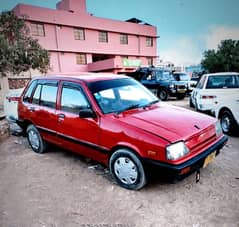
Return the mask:
<path id="1" fill-rule="evenodd" d="M 130 76 L 140 81 L 162 101 L 166 101 L 169 96 L 178 99 L 186 96 L 187 82 L 175 80 L 170 71 L 156 67 L 142 67 Z"/>

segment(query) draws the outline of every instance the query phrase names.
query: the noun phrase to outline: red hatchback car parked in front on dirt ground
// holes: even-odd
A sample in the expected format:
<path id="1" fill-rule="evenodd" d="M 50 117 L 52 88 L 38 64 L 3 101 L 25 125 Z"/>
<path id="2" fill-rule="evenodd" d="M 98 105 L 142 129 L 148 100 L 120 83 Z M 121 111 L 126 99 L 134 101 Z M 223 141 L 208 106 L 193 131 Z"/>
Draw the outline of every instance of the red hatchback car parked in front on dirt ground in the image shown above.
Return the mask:
<path id="1" fill-rule="evenodd" d="M 109 166 L 117 183 L 140 189 L 146 166 L 182 176 L 205 167 L 225 145 L 215 118 L 166 105 L 132 78 L 89 74 L 33 79 L 18 103 L 33 151 L 53 143 Z"/>

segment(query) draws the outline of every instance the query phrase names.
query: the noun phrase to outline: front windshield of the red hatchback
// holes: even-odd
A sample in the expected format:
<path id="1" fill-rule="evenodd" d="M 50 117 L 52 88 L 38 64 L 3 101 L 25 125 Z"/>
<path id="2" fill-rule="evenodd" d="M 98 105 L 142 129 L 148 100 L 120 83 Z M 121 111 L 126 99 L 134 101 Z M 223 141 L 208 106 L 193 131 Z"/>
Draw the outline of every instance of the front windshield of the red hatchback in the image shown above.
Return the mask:
<path id="1" fill-rule="evenodd" d="M 158 101 L 148 89 L 130 78 L 92 82 L 89 89 L 104 114 L 119 114 Z"/>

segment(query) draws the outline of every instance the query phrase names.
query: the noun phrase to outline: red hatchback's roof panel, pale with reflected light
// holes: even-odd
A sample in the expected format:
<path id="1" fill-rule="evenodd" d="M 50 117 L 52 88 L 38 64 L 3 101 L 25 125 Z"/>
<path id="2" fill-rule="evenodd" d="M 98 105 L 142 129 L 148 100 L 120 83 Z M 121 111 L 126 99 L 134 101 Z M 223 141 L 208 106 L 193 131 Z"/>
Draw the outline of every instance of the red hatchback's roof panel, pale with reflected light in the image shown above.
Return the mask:
<path id="1" fill-rule="evenodd" d="M 64 73 L 64 74 L 48 74 L 46 76 L 34 77 L 34 79 L 41 80 L 68 80 L 68 81 L 83 81 L 86 83 L 102 81 L 102 80 L 111 80 L 111 79 L 123 79 L 129 78 L 123 74 L 113 74 L 113 73 Z"/>

